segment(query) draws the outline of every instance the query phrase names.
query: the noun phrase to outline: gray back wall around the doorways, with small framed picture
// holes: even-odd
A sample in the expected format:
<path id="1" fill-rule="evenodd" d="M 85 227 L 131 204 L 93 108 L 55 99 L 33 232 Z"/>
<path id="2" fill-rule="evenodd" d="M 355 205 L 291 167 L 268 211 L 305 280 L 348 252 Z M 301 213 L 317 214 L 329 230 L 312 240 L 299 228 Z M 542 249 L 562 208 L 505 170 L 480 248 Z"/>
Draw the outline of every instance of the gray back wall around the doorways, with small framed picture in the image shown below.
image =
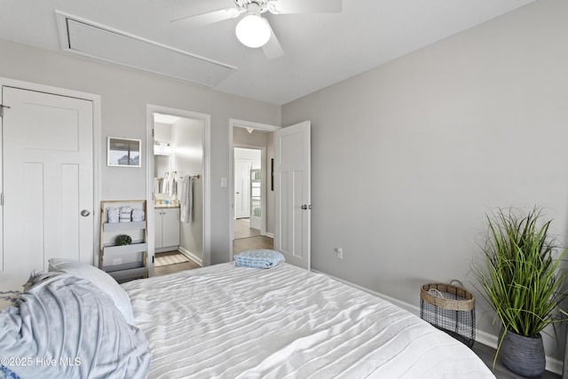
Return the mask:
<path id="1" fill-rule="evenodd" d="M 100 95 L 103 200 L 146 197 L 146 159 L 139 170 L 106 167 L 106 136 L 139 138 L 146 148 L 147 104 L 210 114 L 211 264 L 229 259 L 229 193 L 220 186 L 229 177 L 229 119 L 279 125 L 279 106 L 22 43 L 0 39 L 0 51 L 2 77 Z"/>

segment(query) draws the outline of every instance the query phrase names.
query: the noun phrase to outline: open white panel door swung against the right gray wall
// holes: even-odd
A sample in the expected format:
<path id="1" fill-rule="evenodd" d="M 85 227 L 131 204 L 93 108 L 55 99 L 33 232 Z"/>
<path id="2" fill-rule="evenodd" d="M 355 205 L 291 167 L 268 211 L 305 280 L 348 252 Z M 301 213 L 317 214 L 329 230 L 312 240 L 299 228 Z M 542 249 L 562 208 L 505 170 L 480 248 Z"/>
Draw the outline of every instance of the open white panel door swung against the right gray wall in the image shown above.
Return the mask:
<path id="1" fill-rule="evenodd" d="M 310 122 L 274 132 L 274 249 L 310 270 Z"/>

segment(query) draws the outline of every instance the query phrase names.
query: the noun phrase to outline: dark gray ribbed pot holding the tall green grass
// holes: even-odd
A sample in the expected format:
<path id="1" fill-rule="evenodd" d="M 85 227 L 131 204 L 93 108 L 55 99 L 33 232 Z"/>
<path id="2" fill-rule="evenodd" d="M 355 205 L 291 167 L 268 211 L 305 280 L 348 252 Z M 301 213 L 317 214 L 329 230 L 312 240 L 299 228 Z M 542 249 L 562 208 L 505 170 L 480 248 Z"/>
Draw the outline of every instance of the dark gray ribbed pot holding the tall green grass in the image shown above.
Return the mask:
<path id="1" fill-rule="evenodd" d="M 523 376 L 538 376 L 544 372 L 547 364 L 540 334 L 527 337 L 510 330 L 501 344 L 499 358 L 509 370 Z"/>

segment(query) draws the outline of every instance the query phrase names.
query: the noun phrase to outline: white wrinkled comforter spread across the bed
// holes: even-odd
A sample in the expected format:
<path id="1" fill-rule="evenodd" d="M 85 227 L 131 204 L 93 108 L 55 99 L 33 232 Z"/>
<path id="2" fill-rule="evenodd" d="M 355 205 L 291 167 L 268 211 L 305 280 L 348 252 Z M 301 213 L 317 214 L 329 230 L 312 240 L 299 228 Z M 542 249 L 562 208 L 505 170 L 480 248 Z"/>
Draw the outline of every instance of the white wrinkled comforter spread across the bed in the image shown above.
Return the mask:
<path id="1" fill-rule="evenodd" d="M 150 378 L 489 378 L 462 343 L 325 275 L 214 265 L 122 285 Z"/>

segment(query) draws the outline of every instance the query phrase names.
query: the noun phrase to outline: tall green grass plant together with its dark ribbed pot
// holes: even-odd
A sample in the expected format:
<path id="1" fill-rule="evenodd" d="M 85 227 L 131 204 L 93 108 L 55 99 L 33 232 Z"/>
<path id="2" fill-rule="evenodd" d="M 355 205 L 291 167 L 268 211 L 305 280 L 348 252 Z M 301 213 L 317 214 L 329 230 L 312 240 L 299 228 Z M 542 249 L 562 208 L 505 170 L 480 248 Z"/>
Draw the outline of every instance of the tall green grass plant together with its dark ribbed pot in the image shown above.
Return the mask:
<path id="1" fill-rule="evenodd" d="M 524 214 L 519 209 L 499 209 L 487 217 L 488 233 L 484 263 L 474 266 L 482 295 L 501 320 L 493 368 L 500 356 L 517 374 L 536 376 L 544 372 L 546 358 L 541 332 L 562 322 L 568 313 L 561 303 L 568 295 L 559 249 L 548 235 L 552 220 L 542 221 L 541 209 Z"/>

